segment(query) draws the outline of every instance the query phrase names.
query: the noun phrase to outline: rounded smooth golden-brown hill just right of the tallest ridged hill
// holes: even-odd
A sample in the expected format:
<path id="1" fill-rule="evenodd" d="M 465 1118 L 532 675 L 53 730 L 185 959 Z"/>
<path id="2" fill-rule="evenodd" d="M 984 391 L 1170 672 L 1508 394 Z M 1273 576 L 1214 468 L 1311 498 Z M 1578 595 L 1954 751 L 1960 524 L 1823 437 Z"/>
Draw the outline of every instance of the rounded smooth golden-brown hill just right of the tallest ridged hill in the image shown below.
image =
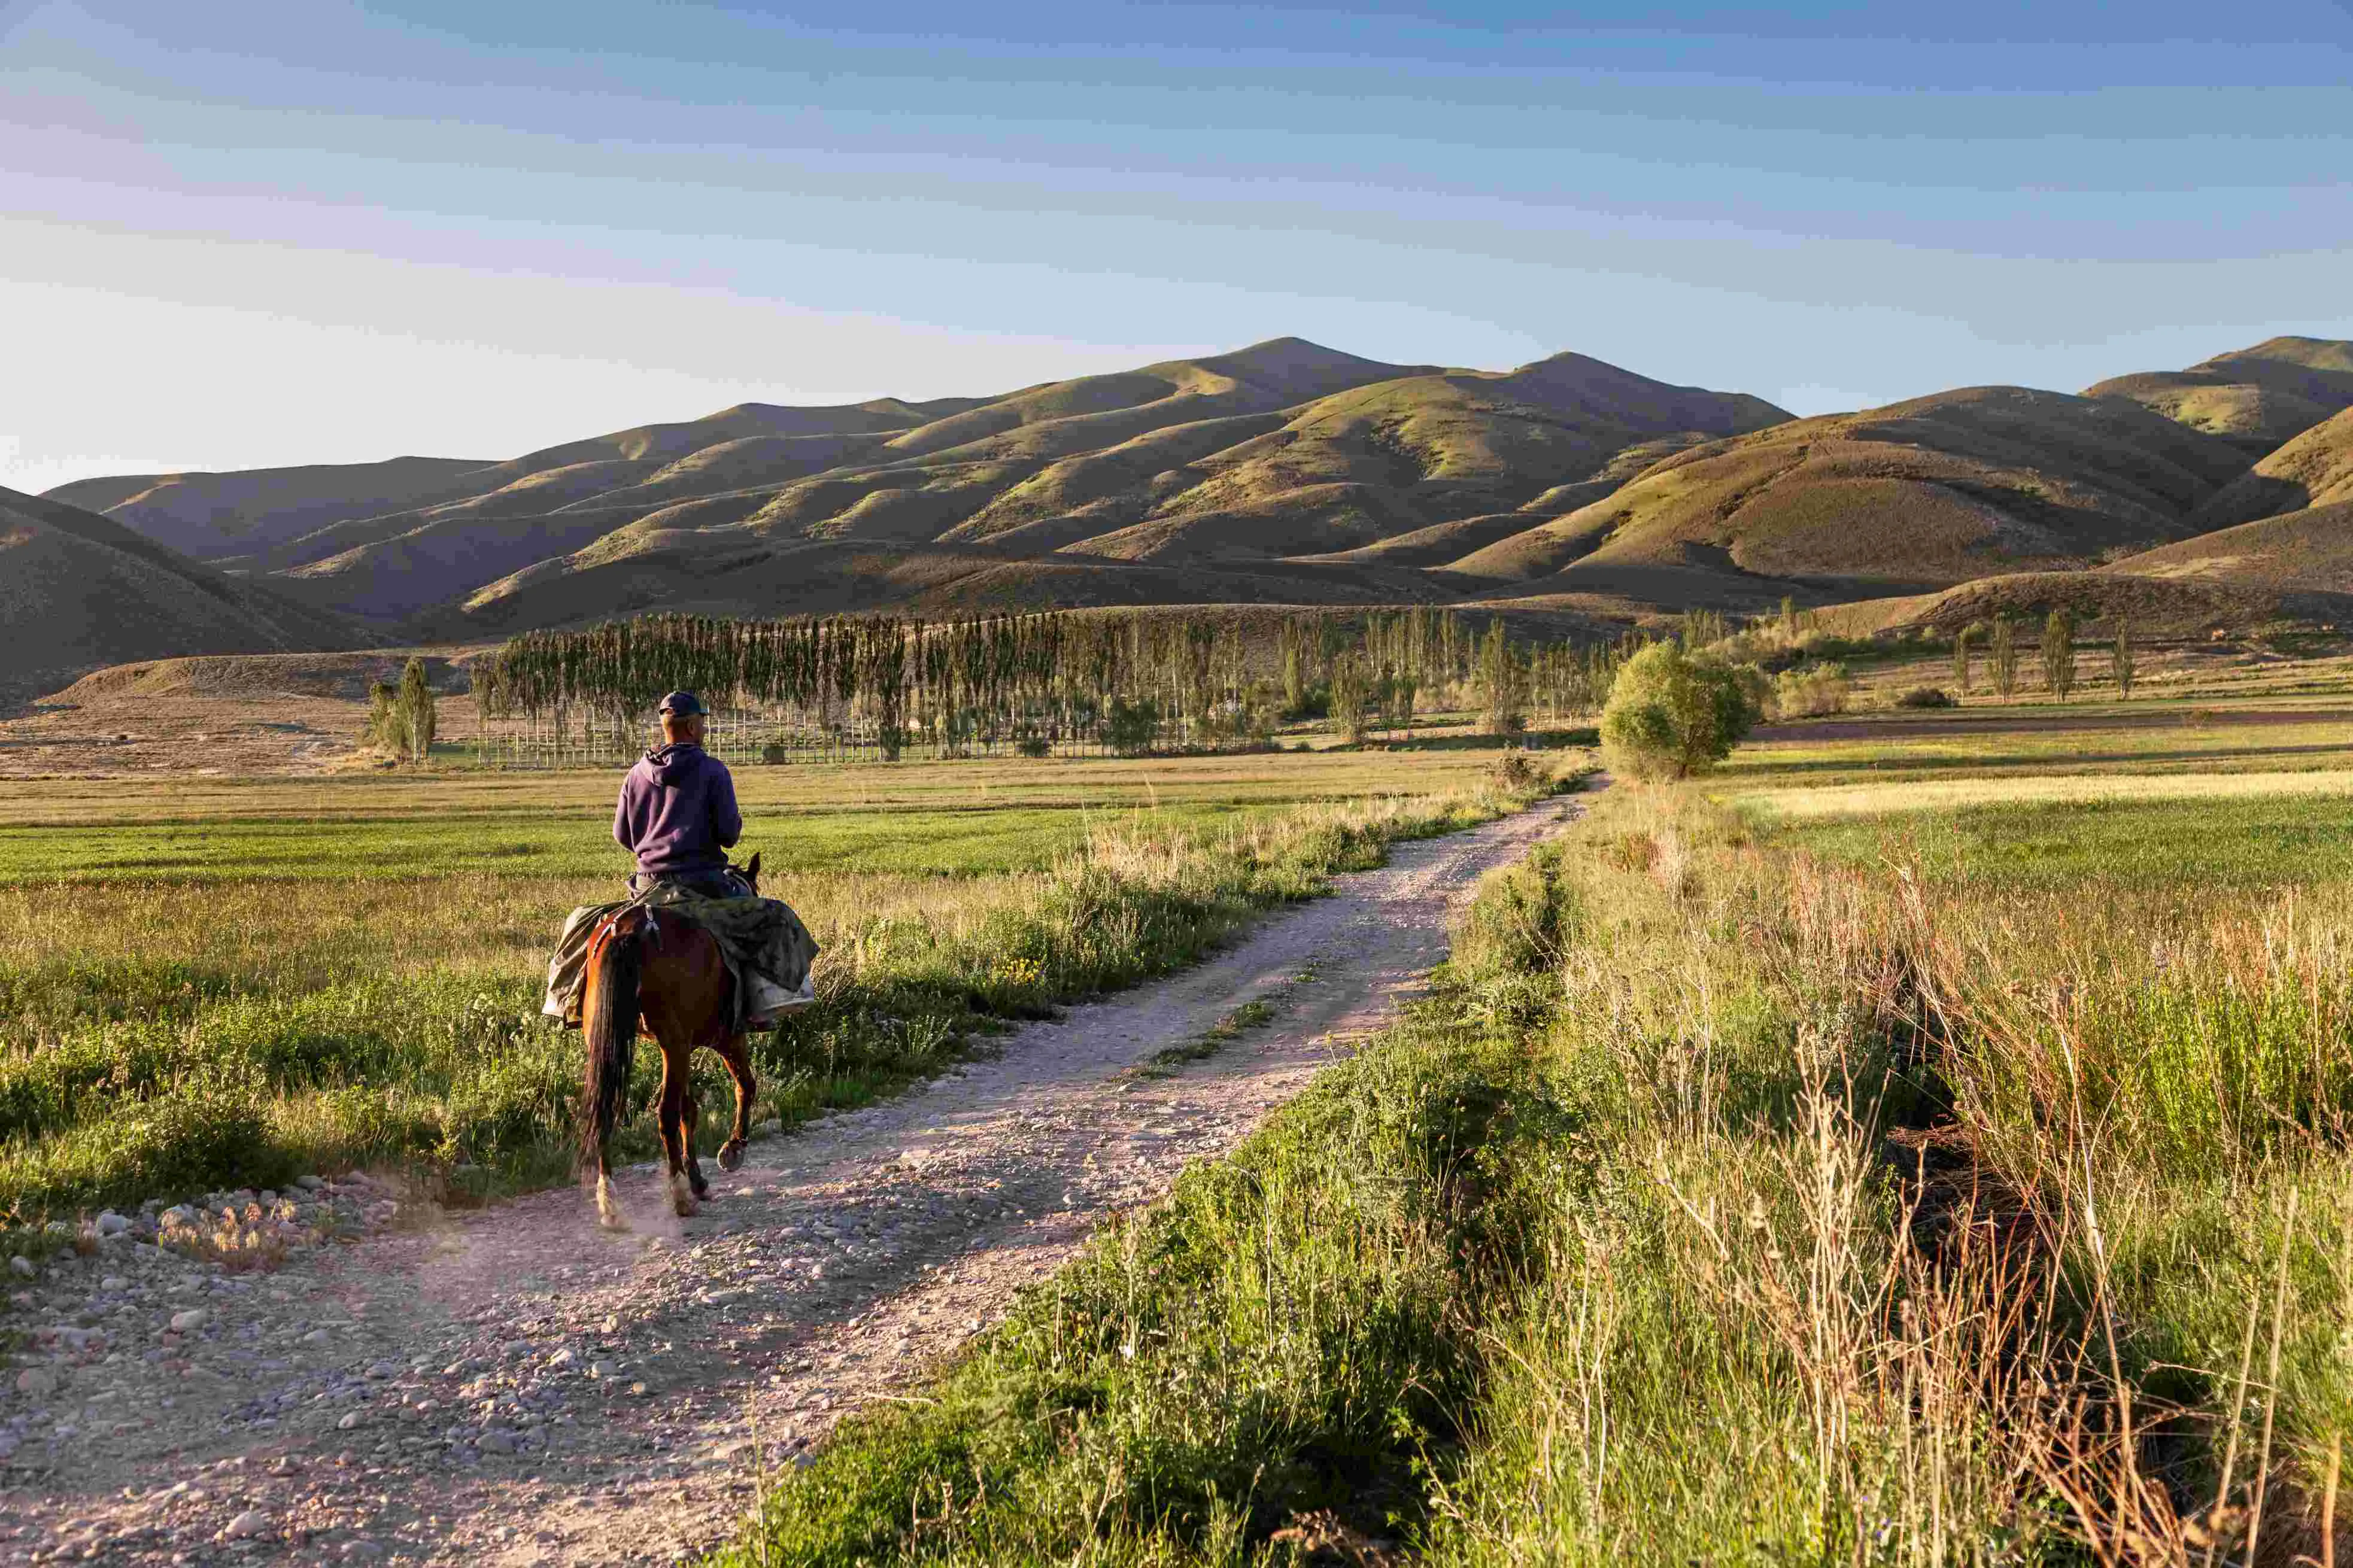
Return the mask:
<path id="1" fill-rule="evenodd" d="M 2179 539 L 2242 464 L 2127 400 L 1977 386 L 1692 447 L 1447 572 L 1666 607 L 1922 591 Z"/>

